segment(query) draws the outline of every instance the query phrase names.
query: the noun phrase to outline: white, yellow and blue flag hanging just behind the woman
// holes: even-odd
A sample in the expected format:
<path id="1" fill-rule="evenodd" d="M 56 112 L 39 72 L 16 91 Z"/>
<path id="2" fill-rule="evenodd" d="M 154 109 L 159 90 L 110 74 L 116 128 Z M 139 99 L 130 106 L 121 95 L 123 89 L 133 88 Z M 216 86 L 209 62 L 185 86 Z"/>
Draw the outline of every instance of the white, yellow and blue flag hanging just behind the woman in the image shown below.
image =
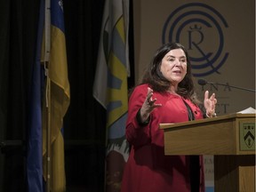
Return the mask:
<path id="1" fill-rule="evenodd" d="M 125 140 L 128 110 L 127 77 L 129 0 L 105 2 L 93 97 L 107 109 L 106 191 L 119 191 L 129 156 Z"/>

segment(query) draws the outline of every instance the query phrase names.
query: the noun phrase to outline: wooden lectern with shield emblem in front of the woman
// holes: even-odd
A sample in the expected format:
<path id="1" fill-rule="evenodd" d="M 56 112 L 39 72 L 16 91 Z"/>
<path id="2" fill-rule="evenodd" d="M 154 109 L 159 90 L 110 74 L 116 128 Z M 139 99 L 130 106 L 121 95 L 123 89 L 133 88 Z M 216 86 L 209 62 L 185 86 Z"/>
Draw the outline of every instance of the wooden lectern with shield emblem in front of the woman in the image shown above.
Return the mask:
<path id="1" fill-rule="evenodd" d="M 214 190 L 255 192 L 255 114 L 160 124 L 165 155 L 213 155 Z"/>

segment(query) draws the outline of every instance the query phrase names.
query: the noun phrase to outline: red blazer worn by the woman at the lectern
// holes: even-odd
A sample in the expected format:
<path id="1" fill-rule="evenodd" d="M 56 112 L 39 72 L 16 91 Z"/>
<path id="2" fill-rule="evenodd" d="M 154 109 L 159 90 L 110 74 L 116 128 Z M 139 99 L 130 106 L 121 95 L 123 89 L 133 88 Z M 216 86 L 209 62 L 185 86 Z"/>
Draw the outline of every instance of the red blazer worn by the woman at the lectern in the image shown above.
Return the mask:
<path id="1" fill-rule="evenodd" d="M 140 125 L 136 115 L 148 92 L 148 84 L 137 86 L 129 99 L 126 139 L 131 153 L 124 168 L 122 192 L 190 192 L 189 156 L 164 155 L 164 131 L 159 124 L 188 121 L 186 101 L 196 119 L 203 112 L 190 100 L 165 92 L 153 93 L 156 103 L 147 125 Z M 200 156 L 200 191 L 204 192 L 204 162 Z"/>

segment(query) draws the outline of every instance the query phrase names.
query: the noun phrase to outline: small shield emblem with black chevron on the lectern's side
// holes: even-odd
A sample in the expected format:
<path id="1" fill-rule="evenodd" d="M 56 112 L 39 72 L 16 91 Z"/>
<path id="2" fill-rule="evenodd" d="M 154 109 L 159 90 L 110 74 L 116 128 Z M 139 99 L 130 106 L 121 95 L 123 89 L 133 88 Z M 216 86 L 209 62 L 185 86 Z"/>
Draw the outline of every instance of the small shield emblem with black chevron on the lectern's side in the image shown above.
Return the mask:
<path id="1" fill-rule="evenodd" d="M 255 150 L 255 123 L 240 124 L 240 149 Z"/>

